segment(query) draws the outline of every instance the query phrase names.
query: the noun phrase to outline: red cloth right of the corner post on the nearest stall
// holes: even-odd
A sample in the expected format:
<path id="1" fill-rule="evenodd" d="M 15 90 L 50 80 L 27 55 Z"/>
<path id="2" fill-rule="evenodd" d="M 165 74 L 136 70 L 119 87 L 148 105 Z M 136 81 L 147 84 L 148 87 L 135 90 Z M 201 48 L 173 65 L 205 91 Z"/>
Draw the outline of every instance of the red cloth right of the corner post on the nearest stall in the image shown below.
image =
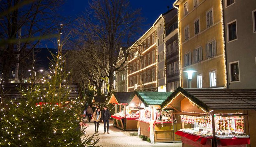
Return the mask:
<path id="1" fill-rule="evenodd" d="M 250 144 L 250 138 L 220 139 L 221 146 Z"/>

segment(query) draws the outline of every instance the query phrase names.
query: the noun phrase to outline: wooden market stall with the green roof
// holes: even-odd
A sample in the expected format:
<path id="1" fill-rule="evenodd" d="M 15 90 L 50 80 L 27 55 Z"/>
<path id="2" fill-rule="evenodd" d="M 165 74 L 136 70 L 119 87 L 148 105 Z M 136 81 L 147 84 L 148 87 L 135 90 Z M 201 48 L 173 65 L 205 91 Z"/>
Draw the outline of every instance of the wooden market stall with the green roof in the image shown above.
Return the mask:
<path id="1" fill-rule="evenodd" d="M 160 105 L 171 92 L 135 92 L 130 106 L 140 109 L 138 133 L 149 137 L 151 143 L 180 141 L 174 139 L 172 109 L 162 111 Z"/>

